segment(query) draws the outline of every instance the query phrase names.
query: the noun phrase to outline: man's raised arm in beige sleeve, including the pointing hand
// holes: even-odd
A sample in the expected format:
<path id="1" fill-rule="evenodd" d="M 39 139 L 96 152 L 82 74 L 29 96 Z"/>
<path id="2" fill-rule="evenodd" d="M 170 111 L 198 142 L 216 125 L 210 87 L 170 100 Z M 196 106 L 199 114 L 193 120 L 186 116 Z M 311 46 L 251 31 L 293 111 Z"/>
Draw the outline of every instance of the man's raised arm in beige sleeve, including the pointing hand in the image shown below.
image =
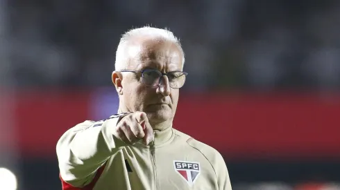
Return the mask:
<path id="1" fill-rule="evenodd" d="M 85 187 L 112 154 L 138 140 L 148 144 L 153 140 L 152 134 L 146 114 L 141 112 L 74 126 L 60 137 L 56 147 L 62 182 Z"/>

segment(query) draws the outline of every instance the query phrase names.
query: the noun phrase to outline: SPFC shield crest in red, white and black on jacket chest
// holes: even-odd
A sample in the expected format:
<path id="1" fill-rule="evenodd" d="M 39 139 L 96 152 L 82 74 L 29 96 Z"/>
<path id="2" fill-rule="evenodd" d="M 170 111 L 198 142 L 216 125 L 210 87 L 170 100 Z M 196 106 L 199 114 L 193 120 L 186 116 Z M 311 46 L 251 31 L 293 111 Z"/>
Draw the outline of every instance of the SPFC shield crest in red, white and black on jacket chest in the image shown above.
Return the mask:
<path id="1" fill-rule="evenodd" d="M 198 175 L 201 173 L 201 166 L 198 162 L 173 161 L 175 170 L 184 178 L 189 186 L 194 184 Z"/>

